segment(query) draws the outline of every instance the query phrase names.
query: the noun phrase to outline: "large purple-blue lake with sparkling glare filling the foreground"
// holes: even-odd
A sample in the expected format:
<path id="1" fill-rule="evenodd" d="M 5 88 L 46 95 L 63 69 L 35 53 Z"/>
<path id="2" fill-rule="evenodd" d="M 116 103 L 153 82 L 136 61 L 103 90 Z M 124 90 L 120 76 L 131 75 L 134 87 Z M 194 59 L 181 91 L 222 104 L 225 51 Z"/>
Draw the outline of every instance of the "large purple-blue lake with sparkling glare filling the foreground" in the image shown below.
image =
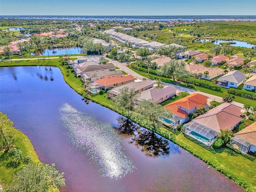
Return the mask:
<path id="1" fill-rule="evenodd" d="M 244 191 L 172 142 L 169 154 L 142 152 L 117 132 L 119 115 L 81 100 L 58 68 L 0 68 L 0 110 L 65 172 L 62 192 Z"/>

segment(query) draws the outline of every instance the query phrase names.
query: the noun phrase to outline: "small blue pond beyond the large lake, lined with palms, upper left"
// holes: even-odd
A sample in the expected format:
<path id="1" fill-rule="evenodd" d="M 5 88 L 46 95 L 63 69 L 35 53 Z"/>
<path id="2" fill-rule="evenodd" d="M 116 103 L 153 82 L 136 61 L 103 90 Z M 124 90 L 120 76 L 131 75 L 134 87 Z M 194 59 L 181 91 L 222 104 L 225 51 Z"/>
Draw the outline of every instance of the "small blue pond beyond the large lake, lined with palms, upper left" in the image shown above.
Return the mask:
<path id="1" fill-rule="evenodd" d="M 80 47 L 70 47 L 70 48 L 50 48 L 50 49 L 43 49 L 41 50 L 37 50 L 36 54 L 31 53 L 30 55 L 40 55 L 42 56 L 44 54 L 44 56 L 52 56 L 52 55 L 66 55 L 66 53 L 68 52 L 68 54 L 85 54 L 86 51 L 81 50 Z"/>

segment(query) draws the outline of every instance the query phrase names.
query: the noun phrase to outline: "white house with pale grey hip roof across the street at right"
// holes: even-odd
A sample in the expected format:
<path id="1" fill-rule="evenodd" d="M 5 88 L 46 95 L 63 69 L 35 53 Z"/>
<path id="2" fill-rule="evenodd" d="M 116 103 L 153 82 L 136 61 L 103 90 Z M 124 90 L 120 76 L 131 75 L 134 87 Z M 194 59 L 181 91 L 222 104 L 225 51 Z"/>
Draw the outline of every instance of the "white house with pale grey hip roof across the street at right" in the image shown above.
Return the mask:
<path id="1" fill-rule="evenodd" d="M 230 88 L 238 87 L 246 80 L 246 76 L 238 71 L 234 70 L 216 80 L 216 85 Z"/>

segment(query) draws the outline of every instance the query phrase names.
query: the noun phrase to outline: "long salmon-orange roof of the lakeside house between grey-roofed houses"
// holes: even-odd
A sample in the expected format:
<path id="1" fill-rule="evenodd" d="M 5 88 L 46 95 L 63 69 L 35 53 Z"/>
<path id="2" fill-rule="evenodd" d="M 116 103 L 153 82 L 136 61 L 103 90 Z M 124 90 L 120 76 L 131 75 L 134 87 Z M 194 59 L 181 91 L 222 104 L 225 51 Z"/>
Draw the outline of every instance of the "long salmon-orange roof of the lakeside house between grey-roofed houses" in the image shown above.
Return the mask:
<path id="1" fill-rule="evenodd" d="M 113 85 L 116 83 L 122 83 L 126 81 L 132 81 L 134 80 L 134 77 L 132 75 L 127 75 L 127 76 L 110 76 L 110 77 L 105 77 L 102 79 L 98 79 L 94 82 L 101 84 L 103 86 L 109 86 Z"/>

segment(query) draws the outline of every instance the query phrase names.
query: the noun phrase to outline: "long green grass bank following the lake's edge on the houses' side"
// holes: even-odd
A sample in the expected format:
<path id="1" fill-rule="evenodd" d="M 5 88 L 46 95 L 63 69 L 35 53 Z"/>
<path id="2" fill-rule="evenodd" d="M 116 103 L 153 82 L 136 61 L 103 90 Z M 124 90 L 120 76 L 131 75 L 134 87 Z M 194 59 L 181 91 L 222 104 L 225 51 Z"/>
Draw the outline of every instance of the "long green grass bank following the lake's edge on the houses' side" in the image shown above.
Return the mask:
<path id="1" fill-rule="evenodd" d="M 30 61 L 23 62 L 10 62 L 0 63 L 0 67 L 3 66 L 56 66 L 60 68 L 65 82 L 78 94 L 85 96 L 82 94 L 82 90 L 80 85 L 82 84 L 80 78 L 75 78 L 71 73 L 70 76 L 66 76 L 66 66 L 61 66 L 61 62 L 58 59 L 52 59 L 50 62 L 40 60 L 40 62 L 32 63 Z M 102 106 L 110 108 L 118 112 L 119 114 L 125 115 L 122 111 L 117 110 L 113 107 L 111 102 L 106 99 L 106 97 L 97 95 L 94 97 L 85 96 L 89 100 L 96 102 Z M 137 122 L 140 124 L 140 122 Z M 143 124 L 140 124 L 143 126 Z M 145 127 L 145 126 L 144 126 Z M 147 128 L 147 127 L 145 127 Z M 148 128 L 150 129 L 150 128 Z M 200 158 L 208 165 L 212 166 L 216 170 L 220 171 L 222 174 L 232 179 L 236 184 L 242 186 L 247 191 L 256 191 L 256 160 L 252 160 L 250 158 L 246 158 L 240 154 L 236 154 L 234 151 L 226 148 L 221 149 L 213 149 L 206 148 L 201 146 L 194 141 L 186 138 L 184 134 L 180 133 L 173 138 L 172 132 L 168 130 L 168 128 L 160 128 L 159 130 L 154 130 L 157 134 L 171 140 L 178 146 L 184 148 L 194 156 Z M 235 162 L 235 163 L 234 163 Z"/>

